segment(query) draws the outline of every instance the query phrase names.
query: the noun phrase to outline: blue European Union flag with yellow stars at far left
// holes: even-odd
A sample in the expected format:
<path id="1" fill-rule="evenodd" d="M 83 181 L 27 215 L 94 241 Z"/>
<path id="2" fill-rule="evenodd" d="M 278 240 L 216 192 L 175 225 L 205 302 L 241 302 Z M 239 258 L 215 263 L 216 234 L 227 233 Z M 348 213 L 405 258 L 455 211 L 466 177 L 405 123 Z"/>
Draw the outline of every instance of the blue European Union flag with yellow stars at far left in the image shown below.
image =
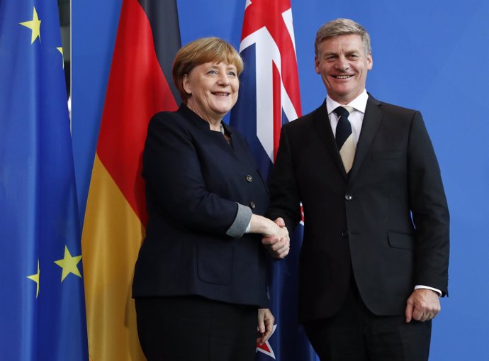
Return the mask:
<path id="1" fill-rule="evenodd" d="M 88 360 L 57 1 L 0 0 L 0 358 Z"/>

